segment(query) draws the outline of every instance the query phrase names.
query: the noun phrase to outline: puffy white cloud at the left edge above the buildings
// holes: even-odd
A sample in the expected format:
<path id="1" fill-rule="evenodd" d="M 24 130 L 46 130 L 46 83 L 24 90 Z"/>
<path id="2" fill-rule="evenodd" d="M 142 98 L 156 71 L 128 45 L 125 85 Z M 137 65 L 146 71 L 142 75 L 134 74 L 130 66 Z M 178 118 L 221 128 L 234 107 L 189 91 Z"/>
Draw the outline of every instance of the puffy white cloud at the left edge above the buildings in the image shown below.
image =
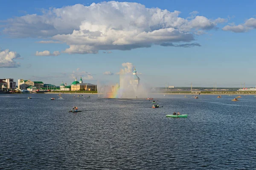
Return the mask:
<path id="1" fill-rule="evenodd" d="M 1 50 L 0 48 L 0 68 L 17 68 L 20 67 L 20 63 L 15 59 L 21 59 L 20 54 L 9 49 Z"/>

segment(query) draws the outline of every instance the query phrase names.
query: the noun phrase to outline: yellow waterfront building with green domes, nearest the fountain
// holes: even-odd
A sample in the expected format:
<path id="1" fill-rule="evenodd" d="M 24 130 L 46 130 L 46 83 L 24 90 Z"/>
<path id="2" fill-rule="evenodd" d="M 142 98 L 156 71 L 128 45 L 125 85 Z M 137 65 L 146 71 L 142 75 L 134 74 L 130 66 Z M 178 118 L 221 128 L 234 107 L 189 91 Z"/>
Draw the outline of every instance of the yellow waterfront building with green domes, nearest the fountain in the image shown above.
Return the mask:
<path id="1" fill-rule="evenodd" d="M 79 82 L 77 79 L 75 79 L 75 81 L 71 84 L 71 91 L 95 91 L 96 88 L 96 85 L 84 83 L 82 77 L 80 78 Z"/>

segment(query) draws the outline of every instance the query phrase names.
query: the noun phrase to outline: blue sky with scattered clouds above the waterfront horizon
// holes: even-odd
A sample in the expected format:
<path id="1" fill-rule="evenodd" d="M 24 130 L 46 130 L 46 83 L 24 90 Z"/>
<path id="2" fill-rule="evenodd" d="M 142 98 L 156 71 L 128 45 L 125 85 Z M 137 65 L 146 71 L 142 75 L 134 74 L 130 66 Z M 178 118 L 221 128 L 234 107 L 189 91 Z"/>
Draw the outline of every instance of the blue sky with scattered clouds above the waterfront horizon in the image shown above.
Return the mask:
<path id="1" fill-rule="evenodd" d="M 0 1 L 0 79 L 255 87 L 256 1 Z M 131 73 L 132 74 L 132 73 Z"/>

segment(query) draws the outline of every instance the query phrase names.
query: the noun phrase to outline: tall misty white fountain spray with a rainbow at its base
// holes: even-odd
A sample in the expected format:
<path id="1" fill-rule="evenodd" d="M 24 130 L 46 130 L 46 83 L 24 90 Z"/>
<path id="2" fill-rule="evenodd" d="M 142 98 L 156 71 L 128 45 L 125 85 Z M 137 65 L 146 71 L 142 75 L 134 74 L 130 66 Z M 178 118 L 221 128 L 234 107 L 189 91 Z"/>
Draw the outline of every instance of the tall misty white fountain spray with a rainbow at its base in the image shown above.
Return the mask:
<path id="1" fill-rule="evenodd" d="M 148 95 L 145 85 L 137 76 L 135 68 L 133 72 L 128 68 L 121 69 L 119 72 L 119 84 L 104 85 L 98 82 L 97 89 L 98 97 L 104 98 L 136 99 L 146 98 Z"/>

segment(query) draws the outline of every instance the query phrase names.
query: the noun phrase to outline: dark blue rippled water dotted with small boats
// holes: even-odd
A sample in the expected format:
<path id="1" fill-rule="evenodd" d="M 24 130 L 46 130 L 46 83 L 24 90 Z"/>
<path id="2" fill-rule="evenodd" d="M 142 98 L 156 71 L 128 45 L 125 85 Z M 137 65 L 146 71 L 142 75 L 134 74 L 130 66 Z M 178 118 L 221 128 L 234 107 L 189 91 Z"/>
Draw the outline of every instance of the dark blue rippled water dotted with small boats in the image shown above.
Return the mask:
<path id="1" fill-rule="evenodd" d="M 73 95 L 0 95 L 0 169 L 256 169 L 253 96 Z"/>

